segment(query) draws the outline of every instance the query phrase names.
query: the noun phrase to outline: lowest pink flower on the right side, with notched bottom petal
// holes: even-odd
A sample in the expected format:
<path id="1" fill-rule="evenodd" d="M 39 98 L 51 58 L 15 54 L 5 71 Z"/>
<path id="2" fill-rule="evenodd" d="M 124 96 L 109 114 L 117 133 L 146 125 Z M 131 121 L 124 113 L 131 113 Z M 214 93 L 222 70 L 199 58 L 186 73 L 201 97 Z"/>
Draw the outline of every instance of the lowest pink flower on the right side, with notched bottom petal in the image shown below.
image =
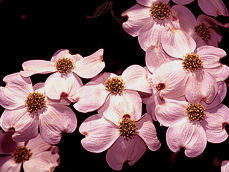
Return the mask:
<path id="1" fill-rule="evenodd" d="M 196 157 L 204 151 L 207 141 L 221 143 L 228 138 L 225 124 L 229 123 L 229 108 L 221 104 L 227 87 L 224 82 L 218 84 L 218 94 L 211 104 L 190 103 L 183 98 L 165 99 L 157 105 L 157 120 L 169 127 L 166 141 L 173 152 L 184 147 L 186 156 Z"/>

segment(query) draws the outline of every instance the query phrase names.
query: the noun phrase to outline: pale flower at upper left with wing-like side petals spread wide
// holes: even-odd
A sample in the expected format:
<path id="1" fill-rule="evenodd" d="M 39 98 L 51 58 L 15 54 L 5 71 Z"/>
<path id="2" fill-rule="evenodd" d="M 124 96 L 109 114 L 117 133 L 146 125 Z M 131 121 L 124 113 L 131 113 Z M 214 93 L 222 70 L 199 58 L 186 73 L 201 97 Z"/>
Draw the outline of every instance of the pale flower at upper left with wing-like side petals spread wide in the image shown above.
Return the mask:
<path id="1" fill-rule="evenodd" d="M 62 95 L 73 101 L 72 96 L 83 85 L 82 78 L 93 78 L 105 67 L 103 49 L 90 56 L 71 55 L 69 50 L 59 50 L 46 60 L 29 60 L 22 64 L 24 71 L 20 74 L 28 77 L 34 74 L 50 75 L 45 82 L 45 91 L 51 99 L 59 100 Z"/>

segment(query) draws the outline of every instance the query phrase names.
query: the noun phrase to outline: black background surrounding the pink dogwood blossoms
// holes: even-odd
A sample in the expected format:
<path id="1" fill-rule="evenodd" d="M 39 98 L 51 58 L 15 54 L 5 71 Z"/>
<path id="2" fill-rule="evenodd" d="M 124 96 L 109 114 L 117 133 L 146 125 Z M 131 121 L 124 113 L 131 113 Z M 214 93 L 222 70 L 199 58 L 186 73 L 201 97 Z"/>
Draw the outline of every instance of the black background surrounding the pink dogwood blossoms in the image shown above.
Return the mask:
<path id="1" fill-rule="evenodd" d="M 0 77 L 18 72 L 21 64 L 31 59 L 50 60 L 59 49 L 69 49 L 72 54 L 88 56 L 104 48 L 106 67 L 103 71 L 120 74 L 132 64 L 145 66 L 144 51 L 137 38 L 128 35 L 120 24 L 120 14 L 136 4 L 135 0 L 113 0 L 113 11 L 96 18 L 92 16 L 96 7 L 105 0 L 55 1 L 55 0 L 2 0 L 0 4 Z M 229 2 L 224 1 L 229 7 Z M 193 13 L 202 13 L 196 2 L 189 4 Z M 229 22 L 227 17 L 218 17 L 220 22 Z M 223 41 L 219 47 L 229 53 L 228 29 L 221 28 Z M 222 62 L 229 64 L 229 57 Z M 32 77 L 33 83 L 45 81 L 47 75 Z M 89 80 L 83 80 L 84 83 Z M 228 106 L 228 96 L 224 100 Z M 1 112 L 3 109 L 1 109 Z M 78 127 L 90 115 L 76 112 Z M 124 164 L 123 171 L 192 171 L 219 172 L 222 160 L 229 160 L 229 141 L 221 144 L 208 143 L 204 153 L 196 158 L 187 158 L 184 151 L 172 153 L 165 141 L 166 128 L 155 122 L 162 143 L 156 152 L 149 150 L 132 167 Z M 105 160 L 106 152 L 94 154 L 81 146 L 82 135 L 76 131 L 63 134 L 60 148 L 62 171 L 112 171 Z M 228 128 L 228 127 L 227 127 Z M 229 131 L 229 130 L 228 130 Z"/>

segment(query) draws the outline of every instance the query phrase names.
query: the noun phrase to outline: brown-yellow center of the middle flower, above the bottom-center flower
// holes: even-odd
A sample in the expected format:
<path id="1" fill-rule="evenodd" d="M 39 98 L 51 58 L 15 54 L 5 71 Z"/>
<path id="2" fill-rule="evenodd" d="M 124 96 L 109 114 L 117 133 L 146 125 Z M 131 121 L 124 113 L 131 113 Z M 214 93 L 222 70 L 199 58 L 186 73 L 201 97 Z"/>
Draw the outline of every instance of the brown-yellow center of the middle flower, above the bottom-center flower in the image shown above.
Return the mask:
<path id="1" fill-rule="evenodd" d="M 124 89 L 124 82 L 120 77 L 108 78 L 105 81 L 106 90 L 112 94 L 121 94 Z"/>

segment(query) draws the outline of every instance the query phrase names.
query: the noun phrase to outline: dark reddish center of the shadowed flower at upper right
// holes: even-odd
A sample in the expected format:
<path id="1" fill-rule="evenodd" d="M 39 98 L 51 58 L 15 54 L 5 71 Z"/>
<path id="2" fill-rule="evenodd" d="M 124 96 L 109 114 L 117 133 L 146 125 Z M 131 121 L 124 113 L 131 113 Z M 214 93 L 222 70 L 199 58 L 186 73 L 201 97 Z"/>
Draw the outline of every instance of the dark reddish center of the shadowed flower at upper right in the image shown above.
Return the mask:
<path id="1" fill-rule="evenodd" d="M 204 23 L 200 23 L 195 26 L 195 32 L 204 40 L 207 41 L 211 38 L 209 27 Z"/>

